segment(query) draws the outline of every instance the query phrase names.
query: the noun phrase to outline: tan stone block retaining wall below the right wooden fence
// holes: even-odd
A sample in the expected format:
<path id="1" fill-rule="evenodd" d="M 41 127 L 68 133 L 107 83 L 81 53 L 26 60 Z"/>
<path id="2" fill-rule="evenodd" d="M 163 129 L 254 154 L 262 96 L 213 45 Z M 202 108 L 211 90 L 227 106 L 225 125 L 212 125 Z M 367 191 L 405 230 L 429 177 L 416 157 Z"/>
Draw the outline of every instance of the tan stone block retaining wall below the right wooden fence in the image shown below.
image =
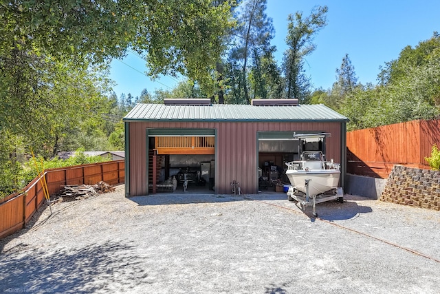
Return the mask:
<path id="1" fill-rule="evenodd" d="M 440 171 L 395 165 L 380 200 L 440 210 Z"/>

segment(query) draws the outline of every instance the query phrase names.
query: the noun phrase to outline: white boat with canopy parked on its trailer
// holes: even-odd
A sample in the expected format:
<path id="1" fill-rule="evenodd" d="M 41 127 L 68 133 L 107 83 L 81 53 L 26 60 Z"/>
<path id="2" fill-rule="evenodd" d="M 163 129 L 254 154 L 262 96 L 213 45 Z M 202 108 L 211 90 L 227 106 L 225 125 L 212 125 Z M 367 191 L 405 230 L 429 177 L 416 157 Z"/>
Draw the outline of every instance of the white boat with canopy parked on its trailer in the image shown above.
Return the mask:
<path id="1" fill-rule="evenodd" d="M 297 138 L 325 138 L 328 133 L 296 135 Z M 342 187 L 338 187 L 340 178 L 340 164 L 325 160 L 322 151 L 303 151 L 300 160 L 286 162 L 285 172 L 291 186 L 287 191 L 289 201 L 296 200 L 302 209 L 313 207 L 316 213 L 316 204 L 330 200 L 344 202 Z"/>

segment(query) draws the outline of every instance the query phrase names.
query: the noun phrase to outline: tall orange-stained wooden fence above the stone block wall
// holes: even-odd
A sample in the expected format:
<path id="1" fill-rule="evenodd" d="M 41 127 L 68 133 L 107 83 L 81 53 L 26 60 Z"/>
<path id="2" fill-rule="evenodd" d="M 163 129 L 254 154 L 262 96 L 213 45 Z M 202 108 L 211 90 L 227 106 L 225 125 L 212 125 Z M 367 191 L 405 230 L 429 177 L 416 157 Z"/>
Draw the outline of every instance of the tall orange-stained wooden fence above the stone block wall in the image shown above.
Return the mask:
<path id="1" fill-rule="evenodd" d="M 425 157 L 440 147 L 440 120 L 360 129 L 347 133 L 347 172 L 388 178 L 394 165 L 430 169 Z"/>

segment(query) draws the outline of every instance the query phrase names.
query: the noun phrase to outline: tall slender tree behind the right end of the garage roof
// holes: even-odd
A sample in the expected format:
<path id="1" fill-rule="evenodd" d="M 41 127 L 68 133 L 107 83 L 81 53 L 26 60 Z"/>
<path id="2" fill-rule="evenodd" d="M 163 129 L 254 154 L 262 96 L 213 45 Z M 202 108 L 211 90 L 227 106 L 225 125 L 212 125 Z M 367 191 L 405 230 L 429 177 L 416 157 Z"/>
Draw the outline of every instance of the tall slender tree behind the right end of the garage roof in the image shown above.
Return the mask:
<path id="1" fill-rule="evenodd" d="M 283 71 L 286 79 L 287 97 L 298 98 L 307 103 L 310 93 L 310 78 L 305 75 L 304 58 L 316 48 L 314 36 L 327 25 L 327 6 L 311 10 L 308 17 L 303 12 L 289 14 L 287 20 L 287 50 L 283 58 Z"/>

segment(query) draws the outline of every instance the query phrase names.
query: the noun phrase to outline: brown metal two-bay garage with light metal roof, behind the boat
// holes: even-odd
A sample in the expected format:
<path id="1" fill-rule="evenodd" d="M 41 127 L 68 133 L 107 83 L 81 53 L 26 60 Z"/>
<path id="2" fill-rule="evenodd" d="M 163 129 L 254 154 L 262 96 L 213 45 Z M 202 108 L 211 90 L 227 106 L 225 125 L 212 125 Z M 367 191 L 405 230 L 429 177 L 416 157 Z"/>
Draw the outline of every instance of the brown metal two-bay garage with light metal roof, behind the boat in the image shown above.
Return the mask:
<path id="1" fill-rule="evenodd" d="M 296 99 L 254 100 L 251 105 L 211 105 L 210 99 L 165 99 L 138 104 L 124 117 L 126 196 L 178 190 L 258 193 L 261 178 L 283 180 L 285 162 L 301 150 L 322 150 L 346 173 L 348 119 L 325 105 Z M 331 137 L 300 143 L 294 134 Z M 188 184 L 189 182 L 189 184 Z M 200 188 L 201 187 L 201 188 Z M 175 183 L 174 183 L 175 188 Z"/>

